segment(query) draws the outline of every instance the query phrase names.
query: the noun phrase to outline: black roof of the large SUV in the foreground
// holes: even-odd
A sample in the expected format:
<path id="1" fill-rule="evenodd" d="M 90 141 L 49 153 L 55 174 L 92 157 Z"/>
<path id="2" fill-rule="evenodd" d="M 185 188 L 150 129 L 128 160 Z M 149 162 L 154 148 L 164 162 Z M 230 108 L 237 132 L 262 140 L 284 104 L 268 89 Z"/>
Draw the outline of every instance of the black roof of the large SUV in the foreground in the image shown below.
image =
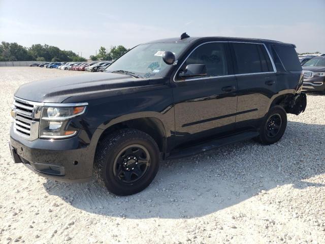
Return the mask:
<path id="1" fill-rule="evenodd" d="M 147 43 L 157 43 L 157 42 L 200 42 L 200 41 L 233 41 L 233 42 L 256 42 L 256 43 L 270 43 L 270 44 L 281 44 L 281 45 L 293 45 L 290 43 L 284 43 L 284 42 L 279 42 L 279 41 L 273 41 L 273 40 L 267 40 L 267 39 L 256 39 L 256 38 L 238 38 L 238 37 L 189 37 L 185 38 L 183 40 L 180 40 L 179 37 L 177 38 L 167 38 L 167 39 L 160 39 L 160 40 L 155 40 Z"/>

